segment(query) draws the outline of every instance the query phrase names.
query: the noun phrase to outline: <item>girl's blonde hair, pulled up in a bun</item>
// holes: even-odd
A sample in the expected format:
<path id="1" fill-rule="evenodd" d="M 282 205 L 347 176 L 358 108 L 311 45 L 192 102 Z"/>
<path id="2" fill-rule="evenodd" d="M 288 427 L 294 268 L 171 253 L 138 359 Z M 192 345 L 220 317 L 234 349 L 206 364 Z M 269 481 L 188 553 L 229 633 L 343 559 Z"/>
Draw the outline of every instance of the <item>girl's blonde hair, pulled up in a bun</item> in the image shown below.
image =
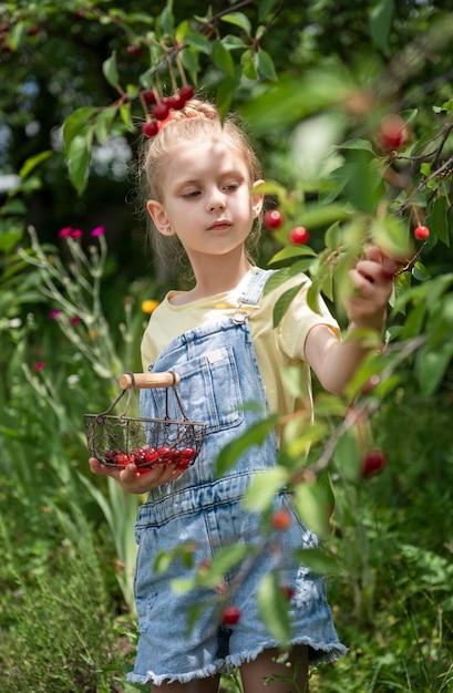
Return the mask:
<path id="1" fill-rule="evenodd" d="M 144 208 L 148 199 L 162 201 L 161 187 L 167 162 L 174 152 L 184 143 L 206 141 L 222 137 L 233 146 L 243 157 L 250 177 L 250 183 L 261 178 L 261 166 L 251 147 L 251 144 L 237 116 L 227 115 L 223 121 L 217 108 L 205 101 L 192 99 L 179 111 L 172 111 L 169 121 L 161 132 L 145 141 L 140 157 L 140 179 Z M 189 268 L 185 250 L 176 236 L 163 237 L 153 225 L 148 215 L 148 238 L 157 257 L 166 265 L 175 263 Z M 261 230 L 261 217 L 255 220 L 254 227 L 246 241 L 249 259 L 253 259 L 258 247 Z"/>

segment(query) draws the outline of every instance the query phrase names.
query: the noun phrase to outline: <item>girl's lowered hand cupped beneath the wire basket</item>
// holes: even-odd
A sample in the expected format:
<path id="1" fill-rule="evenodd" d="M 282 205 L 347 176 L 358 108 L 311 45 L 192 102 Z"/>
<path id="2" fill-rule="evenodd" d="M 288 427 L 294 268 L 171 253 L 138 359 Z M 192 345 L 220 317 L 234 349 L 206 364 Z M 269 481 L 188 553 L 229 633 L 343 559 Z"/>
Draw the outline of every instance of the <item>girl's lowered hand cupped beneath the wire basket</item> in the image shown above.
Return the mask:
<path id="1" fill-rule="evenodd" d="M 166 463 L 158 464 L 145 473 L 142 470 L 141 474 L 134 464 L 122 468 L 111 467 L 101 464 L 95 457 L 90 457 L 89 464 L 93 474 L 111 476 L 130 494 L 146 494 L 162 484 L 174 482 L 185 472 L 185 469 L 177 469 L 174 464 Z"/>

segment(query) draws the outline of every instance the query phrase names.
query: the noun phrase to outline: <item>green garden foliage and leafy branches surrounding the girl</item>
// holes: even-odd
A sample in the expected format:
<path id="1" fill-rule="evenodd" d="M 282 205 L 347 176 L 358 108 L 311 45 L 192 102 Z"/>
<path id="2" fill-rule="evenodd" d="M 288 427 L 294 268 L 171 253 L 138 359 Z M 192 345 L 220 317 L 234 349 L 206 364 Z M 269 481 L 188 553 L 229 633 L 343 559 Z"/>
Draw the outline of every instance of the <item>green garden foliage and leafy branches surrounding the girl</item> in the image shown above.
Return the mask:
<path id="1" fill-rule="evenodd" d="M 385 353 L 367 361 L 346 397 L 317 387 L 316 425 L 288 426 L 275 478 L 258 480 L 246 501 L 266 524 L 264 484 L 294 480 L 298 510 L 323 537 L 310 560 L 328 571 L 351 653 L 315 671 L 313 691 L 450 690 L 452 38 L 449 2 L 0 2 L 4 690 L 135 690 L 124 672 L 136 637 L 140 499 L 89 475 L 82 418 L 113 400 L 121 372 L 140 370 L 142 302 L 184 283 L 143 252 L 136 194 L 150 117 L 141 92 L 168 94 L 184 81 L 245 118 L 268 206 L 285 215 L 264 232 L 259 258 L 280 270 L 276 283 L 307 271 L 312 304 L 322 292 L 343 323 L 347 269 L 363 247 L 404 259 Z M 380 139 L 388 114 L 410 133 L 395 151 Z M 289 244 L 298 225 L 309 246 Z M 412 237 L 419 225 L 430 227 L 426 242 Z M 68 226 L 82 239 L 59 238 Z M 105 235 L 91 237 L 100 226 Z M 290 300 L 276 306 L 276 323 Z M 287 381 L 297 387 L 294 374 Z M 261 433 L 225 451 L 219 468 Z M 385 451 L 388 466 L 366 484 L 358 468 L 370 446 Z M 320 479 L 328 470 L 329 485 L 312 485 L 307 470 Z M 217 566 L 196 580 L 219 577 Z M 264 601 L 285 637 L 271 587 Z"/>

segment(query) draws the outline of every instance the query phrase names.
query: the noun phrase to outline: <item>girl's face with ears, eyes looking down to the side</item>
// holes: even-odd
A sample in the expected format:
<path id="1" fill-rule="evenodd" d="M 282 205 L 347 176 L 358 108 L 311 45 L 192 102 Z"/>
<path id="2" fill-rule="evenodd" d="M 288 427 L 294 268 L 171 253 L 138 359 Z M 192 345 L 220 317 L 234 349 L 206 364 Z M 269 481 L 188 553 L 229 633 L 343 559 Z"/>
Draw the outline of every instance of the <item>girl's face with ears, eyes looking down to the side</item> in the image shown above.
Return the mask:
<path id="1" fill-rule="evenodd" d="M 262 195 L 251 194 L 260 183 L 250 180 L 228 141 L 186 143 L 168 157 L 162 201 L 148 200 L 147 209 L 164 236 L 178 236 L 194 262 L 244 245 L 262 206 Z"/>

